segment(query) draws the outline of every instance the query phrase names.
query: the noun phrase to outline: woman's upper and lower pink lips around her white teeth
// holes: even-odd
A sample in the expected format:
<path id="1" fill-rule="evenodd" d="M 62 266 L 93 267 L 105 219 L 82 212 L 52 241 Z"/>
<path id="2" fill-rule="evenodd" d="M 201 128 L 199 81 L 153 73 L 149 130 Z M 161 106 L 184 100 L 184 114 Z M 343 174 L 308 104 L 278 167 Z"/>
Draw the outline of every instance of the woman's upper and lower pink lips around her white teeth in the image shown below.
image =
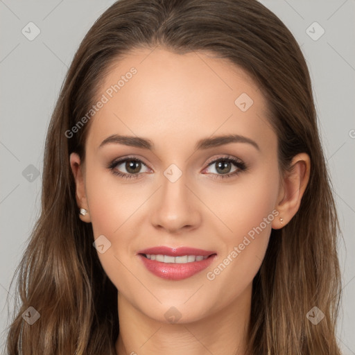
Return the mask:
<path id="1" fill-rule="evenodd" d="M 147 259 L 144 254 L 162 254 L 171 257 L 182 257 L 183 255 L 209 256 L 205 260 L 193 261 L 191 263 L 162 263 L 156 260 Z M 156 247 L 141 250 L 137 256 L 144 263 L 144 266 L 157 277 L 170 280 L 187 279 L 207 268 L 216 258 L 216 252 L 195 248 L 167 248 Z"/>

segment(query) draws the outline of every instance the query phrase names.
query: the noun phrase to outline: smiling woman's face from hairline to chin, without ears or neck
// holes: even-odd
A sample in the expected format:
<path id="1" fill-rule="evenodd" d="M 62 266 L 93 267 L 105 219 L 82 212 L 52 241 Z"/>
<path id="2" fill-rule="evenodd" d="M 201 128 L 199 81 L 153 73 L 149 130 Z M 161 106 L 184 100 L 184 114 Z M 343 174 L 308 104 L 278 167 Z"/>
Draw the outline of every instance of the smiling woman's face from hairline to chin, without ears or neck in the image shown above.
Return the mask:
<path id="1" fill-rule="evenodd" d="M 277 136 L 259 87 L 204 53 L 140 49 L 117 62 L 97 97 L 85 198 L 119 297 L 162 322 L 245 307 L 279 223 Z M 162 246 L 150 253 L 167 263 L 140 254 Z M 173 259 L 176 248 L 202 251 Z"/>

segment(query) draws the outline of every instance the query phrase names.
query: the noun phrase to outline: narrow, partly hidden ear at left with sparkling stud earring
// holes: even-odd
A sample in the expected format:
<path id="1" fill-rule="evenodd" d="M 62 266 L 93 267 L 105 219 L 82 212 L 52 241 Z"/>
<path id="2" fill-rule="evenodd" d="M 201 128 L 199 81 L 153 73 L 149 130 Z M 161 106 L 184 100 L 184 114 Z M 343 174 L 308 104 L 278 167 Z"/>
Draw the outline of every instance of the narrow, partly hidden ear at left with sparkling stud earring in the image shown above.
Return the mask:
<path id="1" fill-rule="evenodd" d="M 80 157 L 77 153 L 71 153 L 70 166 L 76 183 L 76 203 L 78 204 L 79 208 L 84 208 L 87 210 L 87 214 L 85 216 L 79 214 L 79 217 L 81 220 L 83 220 L 83 222 L 90 223 L 91 218 L 85 192 L 84 166 L 83 164 L 80 164 Z"/>

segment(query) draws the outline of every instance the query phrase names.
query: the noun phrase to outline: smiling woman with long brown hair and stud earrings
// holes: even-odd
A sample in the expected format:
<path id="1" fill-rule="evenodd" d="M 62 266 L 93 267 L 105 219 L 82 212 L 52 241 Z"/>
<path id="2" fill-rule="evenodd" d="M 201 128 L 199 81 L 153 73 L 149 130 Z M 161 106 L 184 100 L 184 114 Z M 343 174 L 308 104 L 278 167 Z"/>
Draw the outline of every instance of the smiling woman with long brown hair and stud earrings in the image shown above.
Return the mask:
<path id="1" fill-rule="evenodd" d="M 8 354 L 340 354 L 300 47 L 250 0 L 121 0 L 53 112 Z"/>

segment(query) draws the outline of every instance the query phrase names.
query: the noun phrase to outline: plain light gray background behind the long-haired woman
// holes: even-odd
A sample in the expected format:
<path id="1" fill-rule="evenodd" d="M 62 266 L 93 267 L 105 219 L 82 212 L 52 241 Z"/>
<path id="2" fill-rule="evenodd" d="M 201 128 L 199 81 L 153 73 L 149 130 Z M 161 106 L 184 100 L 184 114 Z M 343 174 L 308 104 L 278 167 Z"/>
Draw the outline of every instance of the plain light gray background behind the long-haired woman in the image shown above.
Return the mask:
<path id="1" fill-rule="evenodd" d="M 37 172 L 42 173 L 51 112 L 78 45 L 113 2 L 0 0 L 1 350 L 9 322 L 7 296 L 12 309 L 10 279 L 39 213 L 42 181 Z M 343 305 L 338 338 L 344 354 L 355 354 L 355 1 L 261 2 L 291 30 L 311 72 L 344 236 L 340 240 Z M 40 35 L 32 41 L 21 33 L 31 21 L 40 28 Z M 312 25 L 315 21 L 325 31 L 318 40 L 322 30 Z"/>

